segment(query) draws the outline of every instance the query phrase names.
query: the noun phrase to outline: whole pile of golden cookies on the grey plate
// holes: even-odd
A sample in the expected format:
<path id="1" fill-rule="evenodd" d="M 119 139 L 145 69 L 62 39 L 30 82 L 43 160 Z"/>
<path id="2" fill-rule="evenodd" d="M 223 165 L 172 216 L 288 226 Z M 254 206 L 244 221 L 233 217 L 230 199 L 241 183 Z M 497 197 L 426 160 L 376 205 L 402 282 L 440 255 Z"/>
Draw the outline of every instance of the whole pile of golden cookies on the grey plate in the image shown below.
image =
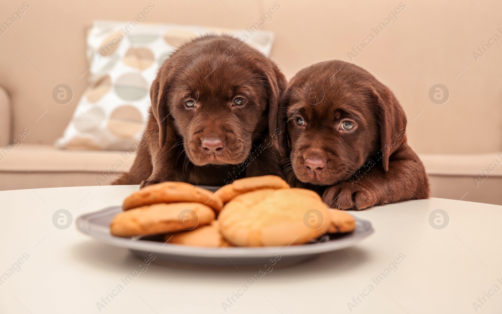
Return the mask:
<path id="1" fill-rule="evenodd" d="M 169 243 L 193 246 L 302 244 L 355 228 L 352 215 L 329 209 L 317 193 L 290 188 L 277 176 L 235 180 L 214 194 L 164 182 L 133 193 L 122 207 L 110 224 L 112 235 L 166 233 Z"/>

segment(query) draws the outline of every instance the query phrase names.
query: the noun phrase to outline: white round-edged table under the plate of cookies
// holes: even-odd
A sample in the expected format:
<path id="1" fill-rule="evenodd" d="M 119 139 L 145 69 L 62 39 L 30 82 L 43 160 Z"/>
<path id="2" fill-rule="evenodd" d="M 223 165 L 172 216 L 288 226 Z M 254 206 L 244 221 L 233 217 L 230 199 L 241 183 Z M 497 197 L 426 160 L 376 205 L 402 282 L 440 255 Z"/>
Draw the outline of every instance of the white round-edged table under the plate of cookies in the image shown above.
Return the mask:
<path id="1" fill-rule="evenodd" d="M 1 313 L 224 313 L 222 302 L 259 269 L 173 268 L 151 263 L 127 286 L 140 260 L 128 250 L 77 232 L 74 220 L 121 200 L 138 186 L 89 186 L 0 192 L 0 275 L 22 259 L 0 286 Z M 52 216 L 67 209 L 73 224 L 58 229 Z M 449 215 L 444 229 L 429 214 Z M 354 247 L 291 267 L 274 268 L 234 299 L 228 313 L 500 313 L 502 206 L 449 199 L 415 200 L 352 214 L 375 232 Z M 375 279 L 406 256 L 380 284 Z M 24 256 L 24 257 L 23 257 Z M 28 257 L 27 257 L 28 256 Z M 278 262 L 279 263 L 279 262 Z M 18 268 L 18 266 L 15 266 Z M 392 266 L 394 268 L 394 266 Z M 497 280 L 500 279 L 500 281 Z M 0 278 L 1 280 L 2 278 Z M 365 290 L 372 285 L 372 291 Z M 358 292 L 364 299 L 353 301 Z M 486 301 L 479 302 L 483 293 Z M 482 298 L 481 298 L 482 301 Z M 483 305 L 484 304 L 484 305 Z"/>

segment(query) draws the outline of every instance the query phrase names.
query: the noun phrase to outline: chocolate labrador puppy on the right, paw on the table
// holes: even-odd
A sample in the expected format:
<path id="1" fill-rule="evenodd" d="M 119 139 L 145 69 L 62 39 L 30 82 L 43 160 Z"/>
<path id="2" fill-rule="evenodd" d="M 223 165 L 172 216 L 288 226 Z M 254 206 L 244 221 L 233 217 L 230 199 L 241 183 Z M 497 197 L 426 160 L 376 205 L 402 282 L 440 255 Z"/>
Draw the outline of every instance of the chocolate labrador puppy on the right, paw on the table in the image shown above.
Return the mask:
<path id="1" fill-rule="evenodd" d="M 356 65 L 333 60 L 298 72 L 282 96 L 278 124 L 289 183 L 316 190 L 332 208 L 429 197 L 403 108 Z"/>

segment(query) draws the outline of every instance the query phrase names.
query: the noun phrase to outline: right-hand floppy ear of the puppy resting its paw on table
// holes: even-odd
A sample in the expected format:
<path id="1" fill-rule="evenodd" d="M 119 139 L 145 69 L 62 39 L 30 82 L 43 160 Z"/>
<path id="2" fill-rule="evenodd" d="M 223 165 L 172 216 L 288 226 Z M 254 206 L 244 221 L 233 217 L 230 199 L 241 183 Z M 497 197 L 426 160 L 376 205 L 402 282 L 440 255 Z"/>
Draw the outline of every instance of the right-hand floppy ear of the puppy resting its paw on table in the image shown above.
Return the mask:
<path id="1" fill-rule="evenodd" d="M 403 108 L 391 90 L 383 84 L 379 84 L 375 88 L 370 87 L 370 91 L 376 103 L 376 120 L 380 125 L 382 166 L 385 171 L 388 171 L 389 157 L 406 140 L 407 120 Z"/>

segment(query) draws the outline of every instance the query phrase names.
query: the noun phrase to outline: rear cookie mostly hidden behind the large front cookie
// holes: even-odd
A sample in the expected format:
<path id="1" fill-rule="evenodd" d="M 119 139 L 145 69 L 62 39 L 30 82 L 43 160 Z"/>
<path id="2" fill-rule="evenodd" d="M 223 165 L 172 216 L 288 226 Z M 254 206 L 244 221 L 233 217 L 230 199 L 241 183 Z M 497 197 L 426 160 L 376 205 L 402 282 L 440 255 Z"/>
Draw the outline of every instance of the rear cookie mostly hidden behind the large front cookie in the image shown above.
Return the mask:
<path id="1" fill-rule="evenodd" d="M 289 184 L 278 176 L 249 177 L 233 181 L 214 192 L 223 204 L 237 195 L 261 189 L 288 189 Z"/>

